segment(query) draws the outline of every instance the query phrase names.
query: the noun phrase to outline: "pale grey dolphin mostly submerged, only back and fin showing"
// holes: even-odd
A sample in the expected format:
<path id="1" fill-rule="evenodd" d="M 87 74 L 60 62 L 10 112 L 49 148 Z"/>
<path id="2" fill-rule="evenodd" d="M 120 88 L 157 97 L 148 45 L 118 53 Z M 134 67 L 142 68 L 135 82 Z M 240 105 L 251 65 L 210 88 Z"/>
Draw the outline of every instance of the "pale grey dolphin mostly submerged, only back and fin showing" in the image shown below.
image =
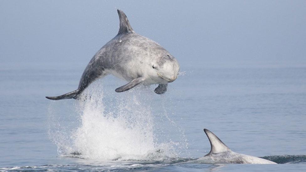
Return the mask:
<path id="1" fill-rule="evenodd" d="M 255 156 L 239 154 L 230 150 L 214 133 L 204 129 L 210 142 L 210 152 L 197 161 L 210 164 L 277 164 Z"/>

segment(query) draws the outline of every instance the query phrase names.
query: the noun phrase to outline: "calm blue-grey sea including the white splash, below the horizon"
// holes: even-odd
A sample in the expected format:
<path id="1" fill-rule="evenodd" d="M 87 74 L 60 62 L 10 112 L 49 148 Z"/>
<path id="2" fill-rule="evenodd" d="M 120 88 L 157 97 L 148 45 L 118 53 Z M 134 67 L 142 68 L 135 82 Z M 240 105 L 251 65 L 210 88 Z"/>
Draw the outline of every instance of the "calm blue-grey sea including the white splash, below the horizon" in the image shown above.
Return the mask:
<path id="1" fill-rule="evenodd" d="M 84 64 L 83 64 L 84 65 Z M 155 86 L 116 93 L 113 76 L 81 100 L 83 65 L 1 64 L 0 171 L 305 171 L 306 68 L 184 67 L 164 95 Z M 273 164 L 205 164 L 203 132 Z"/>

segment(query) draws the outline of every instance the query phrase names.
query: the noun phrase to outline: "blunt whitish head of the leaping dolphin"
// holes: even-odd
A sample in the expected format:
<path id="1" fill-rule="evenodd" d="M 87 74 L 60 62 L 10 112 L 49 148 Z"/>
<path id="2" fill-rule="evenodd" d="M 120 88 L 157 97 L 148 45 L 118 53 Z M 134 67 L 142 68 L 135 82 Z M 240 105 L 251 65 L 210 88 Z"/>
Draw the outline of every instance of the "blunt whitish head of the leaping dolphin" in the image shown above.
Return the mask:
<path id="1" fill-rule="evenodd" d="M 177 60 L 170 53 L 157 58 L 150 64 L 150 68 L 151 77 L 159 83 L 173 82 L 177 79 L 180 70 Z"/>

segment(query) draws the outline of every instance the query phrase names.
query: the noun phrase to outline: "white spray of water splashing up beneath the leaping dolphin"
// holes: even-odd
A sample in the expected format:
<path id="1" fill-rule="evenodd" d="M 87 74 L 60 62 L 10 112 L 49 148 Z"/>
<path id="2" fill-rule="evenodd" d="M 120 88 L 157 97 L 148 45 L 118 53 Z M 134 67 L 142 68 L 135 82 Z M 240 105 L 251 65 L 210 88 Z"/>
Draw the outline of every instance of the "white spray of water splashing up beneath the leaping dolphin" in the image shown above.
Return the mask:
<path id="1" fill-rule="evenodd" d="M 102 90 L 101 84 L 92 84 L 75 103 L 50 104 L 49 136 L 60 155 L 140 161 L 179 157 L 178 147 L 184 143 L 172 141 L 165 133 L 164 139 L 158 138 L 163 128 L 175 125 L 165 108 L 156 108 L 162 101 L 152 100 L 151 89 L 137 87 L 121 94 Z M 161 114 L 165 114 L 163 124 Z"/>

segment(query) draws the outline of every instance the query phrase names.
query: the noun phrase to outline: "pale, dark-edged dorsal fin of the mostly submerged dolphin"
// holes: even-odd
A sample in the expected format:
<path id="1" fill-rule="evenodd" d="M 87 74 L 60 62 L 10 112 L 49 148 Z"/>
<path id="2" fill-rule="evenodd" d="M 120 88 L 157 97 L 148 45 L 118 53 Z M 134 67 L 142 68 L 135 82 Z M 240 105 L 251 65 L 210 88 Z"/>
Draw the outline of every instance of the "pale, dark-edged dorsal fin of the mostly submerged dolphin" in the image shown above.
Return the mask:
<path id="1" fill-rule="evenodd" d="M 211 146 L 210 152 L 207 155 L 231 151 L 214 133 L 205 128 L 204 132 L 207 135 Z"/>

